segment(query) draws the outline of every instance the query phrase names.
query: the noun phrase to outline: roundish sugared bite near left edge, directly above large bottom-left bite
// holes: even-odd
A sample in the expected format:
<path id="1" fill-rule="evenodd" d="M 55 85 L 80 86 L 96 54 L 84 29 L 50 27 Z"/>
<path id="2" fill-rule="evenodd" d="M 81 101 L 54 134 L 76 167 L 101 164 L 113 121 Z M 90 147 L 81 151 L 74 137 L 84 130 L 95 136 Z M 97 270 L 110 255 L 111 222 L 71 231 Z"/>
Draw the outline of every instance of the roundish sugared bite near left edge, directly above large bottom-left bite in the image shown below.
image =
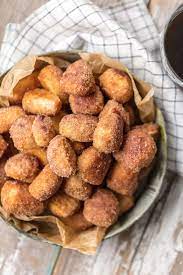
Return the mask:
<path id="1" fill-rule="evenodd" d="M 30 154 L 19 153 L 7 160 L 5 172 L 10 178 L 30 183 L 39 172 L 38 159 Z"/>

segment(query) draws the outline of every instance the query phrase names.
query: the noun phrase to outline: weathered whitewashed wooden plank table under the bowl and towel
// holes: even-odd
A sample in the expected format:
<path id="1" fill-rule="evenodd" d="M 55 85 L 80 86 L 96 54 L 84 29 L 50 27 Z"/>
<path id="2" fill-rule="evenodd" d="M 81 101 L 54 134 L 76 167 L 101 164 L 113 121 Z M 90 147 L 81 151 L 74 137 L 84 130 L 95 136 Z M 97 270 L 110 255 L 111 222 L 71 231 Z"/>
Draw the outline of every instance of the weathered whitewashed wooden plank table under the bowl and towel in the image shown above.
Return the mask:
<path id="1" fill-rule="evenodd" d="M 8 22 L 20 22 L 46 2 L 1 0 L 0 41 Z M 159 30 L 182 3 L 183 0 L 150 2 L 149 9 Z M 163 189 L 156 204 L 143 218 L 123 234 L 104 241 L 95 256 L 34 241 L 0 220 L 0 274 L 183 274 L 182 180 L 168 174 Z"/>

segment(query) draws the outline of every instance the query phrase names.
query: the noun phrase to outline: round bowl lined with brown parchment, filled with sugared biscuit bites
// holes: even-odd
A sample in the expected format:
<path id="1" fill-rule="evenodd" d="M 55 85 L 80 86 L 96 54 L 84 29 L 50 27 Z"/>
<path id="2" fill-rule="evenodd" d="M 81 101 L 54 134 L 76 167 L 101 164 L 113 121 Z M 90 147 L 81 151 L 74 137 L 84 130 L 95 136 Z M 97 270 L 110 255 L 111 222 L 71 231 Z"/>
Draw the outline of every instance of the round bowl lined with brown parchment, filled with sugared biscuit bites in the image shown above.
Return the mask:
<path id="1" fill-rule="evenodd" d="M 97 53 L 27 56 L 1 76 L 0 215 L 92 254 L 153 204 L 166 131 L 150 84 Z"/>

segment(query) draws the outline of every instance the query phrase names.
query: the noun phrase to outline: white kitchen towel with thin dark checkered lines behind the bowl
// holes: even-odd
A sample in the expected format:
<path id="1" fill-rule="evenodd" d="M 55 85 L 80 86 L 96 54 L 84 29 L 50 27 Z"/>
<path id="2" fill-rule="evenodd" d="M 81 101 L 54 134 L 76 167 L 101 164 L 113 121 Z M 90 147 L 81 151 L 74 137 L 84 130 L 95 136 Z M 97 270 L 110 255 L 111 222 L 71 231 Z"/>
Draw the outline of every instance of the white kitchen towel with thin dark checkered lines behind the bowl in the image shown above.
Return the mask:
<path id="1" fill-rule="evenodd" d="M 27 54 L 52 50 L 83 49 L 121 60 L 155 87 L 156 102 L 166 119 L 168 167 L 183 175 L 183 92 L 162 68 L 159 34 L 148 1 L 98 1 L 102 7 L 88 0 L 51 0 L 21 24 L 8 24 L 0 71 Z"/>

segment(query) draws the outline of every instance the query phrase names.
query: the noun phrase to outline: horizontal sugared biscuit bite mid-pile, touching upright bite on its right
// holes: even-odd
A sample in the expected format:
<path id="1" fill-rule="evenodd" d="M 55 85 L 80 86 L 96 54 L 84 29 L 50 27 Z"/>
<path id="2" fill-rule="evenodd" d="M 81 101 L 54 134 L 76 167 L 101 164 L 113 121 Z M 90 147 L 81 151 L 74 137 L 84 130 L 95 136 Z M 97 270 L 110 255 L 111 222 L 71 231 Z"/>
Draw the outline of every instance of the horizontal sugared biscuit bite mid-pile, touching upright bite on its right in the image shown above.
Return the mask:
<path id="1" fill-rule="evenodd" d="M 90 142 L 97 126 L 97 117 L 90 115 L 66 115 L 59 124 L 60 134 L 72 141 Z"/>

